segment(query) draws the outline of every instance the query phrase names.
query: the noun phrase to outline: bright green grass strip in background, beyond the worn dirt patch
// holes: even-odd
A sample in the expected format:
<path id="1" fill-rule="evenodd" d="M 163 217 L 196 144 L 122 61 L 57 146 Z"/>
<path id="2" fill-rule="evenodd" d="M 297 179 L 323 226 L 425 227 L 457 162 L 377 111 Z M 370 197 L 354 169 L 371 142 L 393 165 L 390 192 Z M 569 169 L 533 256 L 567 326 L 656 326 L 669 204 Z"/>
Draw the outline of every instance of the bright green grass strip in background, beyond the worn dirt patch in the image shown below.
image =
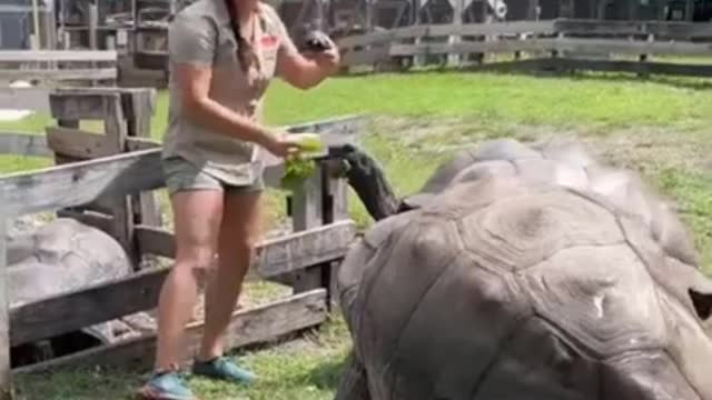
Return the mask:
<path id="1" fill-rule="evenodd" d="M 699 79 L 651 81 L 587 73 L 541 78 L 463 72 L 378 74 L 333 79 L 301 91 L 275 81 L 267 94 L 266 118 L 275 124 L 347 113 L 458 117 L 492 123 L 675 128 L 712 122 L 712 93 Z M 162 136 L 167 97 L 159 96 L 152 131 Z M 53 122 L 32 116 L 0 122 L 3 130 L 41 131 Z"/>

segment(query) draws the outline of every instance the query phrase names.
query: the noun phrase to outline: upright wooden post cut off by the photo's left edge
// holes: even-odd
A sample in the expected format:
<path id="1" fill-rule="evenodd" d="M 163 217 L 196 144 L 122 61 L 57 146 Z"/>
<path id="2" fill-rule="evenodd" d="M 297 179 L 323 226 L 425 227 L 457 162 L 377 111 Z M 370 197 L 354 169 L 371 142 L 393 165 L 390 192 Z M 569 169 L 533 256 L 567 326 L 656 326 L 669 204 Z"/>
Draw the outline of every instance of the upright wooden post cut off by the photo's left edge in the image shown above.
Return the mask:
<path id="1" fill-rule="evenodd" d="M 10 374 L 10 310 L 8 296 L 7 242 L 8 216 L 0 209 L 0 399 L 10 400 L 12 377 Z"/>

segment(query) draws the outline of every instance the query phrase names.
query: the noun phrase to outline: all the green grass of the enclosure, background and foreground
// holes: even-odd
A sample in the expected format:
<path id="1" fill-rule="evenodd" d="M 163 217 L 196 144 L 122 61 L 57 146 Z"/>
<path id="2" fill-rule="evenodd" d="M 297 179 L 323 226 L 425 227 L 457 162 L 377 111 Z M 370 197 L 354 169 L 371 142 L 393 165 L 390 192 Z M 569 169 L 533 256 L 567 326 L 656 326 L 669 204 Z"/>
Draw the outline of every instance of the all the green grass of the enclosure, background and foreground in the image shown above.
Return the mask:
<path id="1" fill-rule="evenodd" d="M 383 74 L 334 79 L 307 92 L 276 82 L 267 97 L 266 117 L 273 124 L 349 113 L 379 116 L 359 141 L 385 167 L 399 194 L 416 191 L 458 146 L 562 132 L 593 140 L 615 162 L 639 169 L 680 202 L 705 270 L 712 271 L 712 183 L 703 162 L 694 161 L 704 160 L 712 148 L 708 130 L 712 90 L 705 81 L 636 81 L 601 74 Z M 160 93 L 152 123 L 157 139 L 162 136 L 166 116 L 166 93 Z M 37 116 L 0 123 L 0 130 L 39 132 L 49 123 L 47 117 Z M 37 159 L 0 158 L 3 171 L 41 164 Z M 270 199 L 281 204 L 280 193 L 273 192 Z M 275 218 L 284 214 L 281 208 L 271 211 Z M 352 216 L 362 227 L 370 222 L 357 201 L 352 201 Z M 348 343 L 344 322 L 336 316 L 306 339 L 240 354 L 263 377 L 254 388 L 236 389 L 200 379 L 194 383 L 204 399 L 333 399 Z M 58 371 L 23 378 L 20 399 L 126 399 L 144 378 L 130 371 Z"/>

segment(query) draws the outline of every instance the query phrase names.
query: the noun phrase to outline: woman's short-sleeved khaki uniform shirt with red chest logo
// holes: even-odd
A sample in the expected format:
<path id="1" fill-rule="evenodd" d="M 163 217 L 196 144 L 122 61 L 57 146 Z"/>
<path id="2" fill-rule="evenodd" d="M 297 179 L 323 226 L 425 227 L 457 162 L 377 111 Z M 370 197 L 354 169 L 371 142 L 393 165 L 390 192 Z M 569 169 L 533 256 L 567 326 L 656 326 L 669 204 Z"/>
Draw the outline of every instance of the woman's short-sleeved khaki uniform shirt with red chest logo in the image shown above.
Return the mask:
<path id="1" fill-rule="evenodd" d="M 243 32 L 246 40 L 251 36 Z M 231 110 L 258 119 L 263 97 L 279 63 L 296 52 L 277 12 L 259 4 L 259 23 L 253 43 L 260 66 L 246 73 L 237 58 L 237 40 L 225 0 L 197 0 L 176 14 L 168 32 L 169 62 L 212 67 L 210 98 Z M 190 120 L 174 74 L 169 81 L 169 124 L 164 158 L 181 157 L 228 184 L 251 184 L 261 166 L 254 143 L 216 132 Z"/>

